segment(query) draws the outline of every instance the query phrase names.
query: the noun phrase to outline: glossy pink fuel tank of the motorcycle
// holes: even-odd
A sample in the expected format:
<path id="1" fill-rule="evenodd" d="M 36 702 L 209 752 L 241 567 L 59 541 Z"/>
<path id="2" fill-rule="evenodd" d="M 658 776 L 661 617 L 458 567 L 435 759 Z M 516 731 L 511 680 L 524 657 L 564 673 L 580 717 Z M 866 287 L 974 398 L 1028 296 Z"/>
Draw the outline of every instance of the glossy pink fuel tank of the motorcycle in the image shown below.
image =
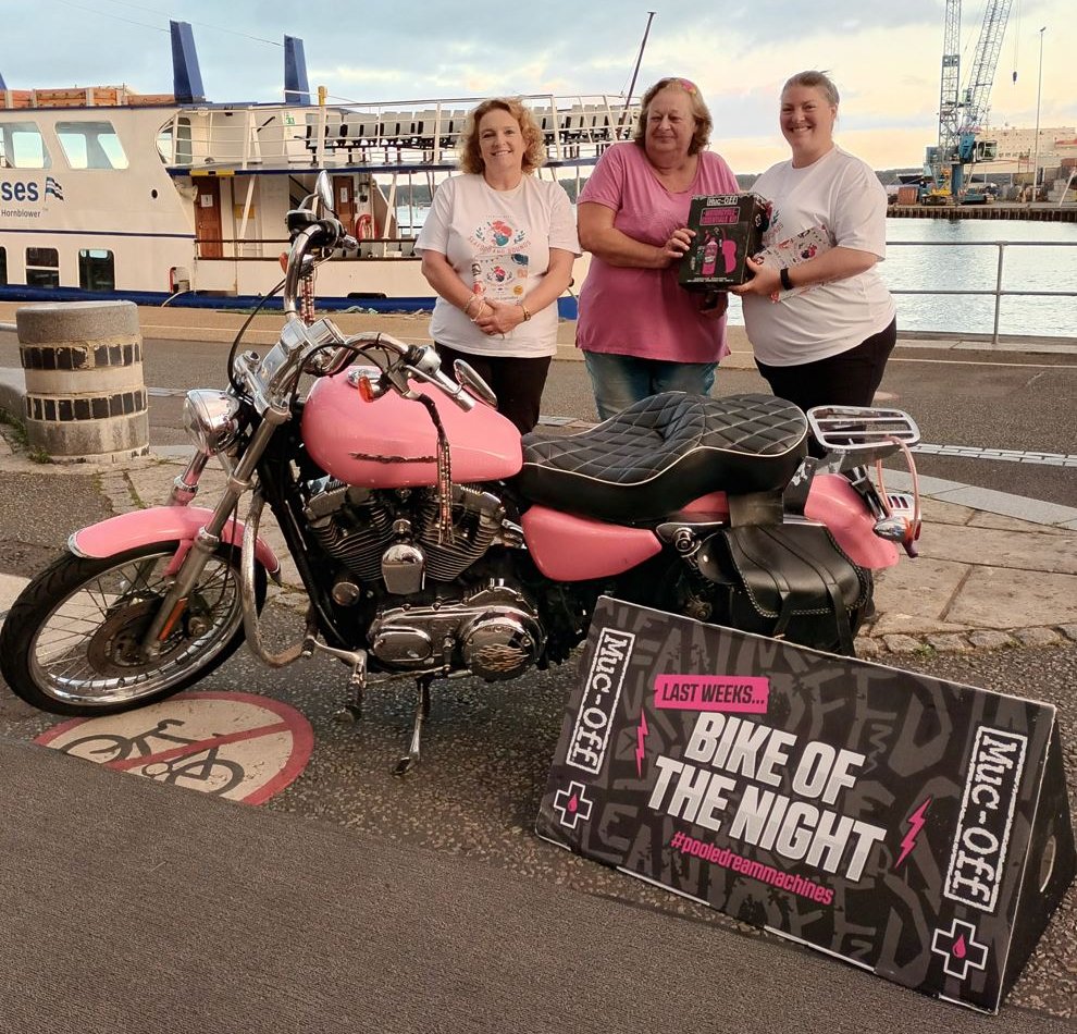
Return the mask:
<path id="1" fill-rule="evenodd" d="M 366 402 L 349 380 L 354 370 L 322 378 L 307 398 L 301 427 L 311 458 L 348 484 L 435 484 L 437 432 L 426 407 L 393 392 Z M 510 420 L 482 403 L 465 413 L 437 389 L 413 386 L 434 399 L 448 435 L 455 482 L 494 481 L 519 471 L 520 432 Z"/>

